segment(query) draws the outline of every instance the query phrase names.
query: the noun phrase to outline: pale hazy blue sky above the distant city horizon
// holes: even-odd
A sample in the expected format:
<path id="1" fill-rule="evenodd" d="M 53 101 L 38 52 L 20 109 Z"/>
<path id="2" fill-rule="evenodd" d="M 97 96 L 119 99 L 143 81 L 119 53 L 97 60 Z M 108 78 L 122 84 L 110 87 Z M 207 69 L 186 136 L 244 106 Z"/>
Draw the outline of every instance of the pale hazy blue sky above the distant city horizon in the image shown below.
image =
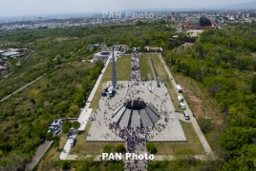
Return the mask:
<path id="1" fill-rule="evenodd" d="M 0 17 L 160 8 L 198 8 L 253 0 L 0 0 Z M 255 0 L 254 0 L 255 1 Z"/>

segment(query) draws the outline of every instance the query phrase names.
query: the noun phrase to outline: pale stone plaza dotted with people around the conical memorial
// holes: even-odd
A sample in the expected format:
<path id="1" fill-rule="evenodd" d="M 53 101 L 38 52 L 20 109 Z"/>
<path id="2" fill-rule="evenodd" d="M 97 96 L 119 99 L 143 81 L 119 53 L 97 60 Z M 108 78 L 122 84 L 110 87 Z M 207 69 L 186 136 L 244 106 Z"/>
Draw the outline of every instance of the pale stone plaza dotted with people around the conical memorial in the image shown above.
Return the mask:
<path id="1" fill-rule="evenodd" d="M 120 108 L 124 108 L 123 104 L 130 100 L 141 100 L 145 104 L 150 104 L 159 112 L 159 118 L 155 126 L 147 126 L 147 133 L 141 133 L 140 137 L 146 137 L 147 142 L 186 142 L 181 123 L 175 113 L 174 106 L 170 99 L 166 87 L 161 84 L 157 87 L 156 82 L 117 82 L 122 85 L 116 89 L 115 97 L 101 97 L 96 112 L 91 114 L 90 119 L 93 120 L 88 142 L 125 142 L 117 134 L 115 129 L 110 129 L 110 125 L 118 120 L 115 114 Z M 111 85 L 108 82 L 107 85 Z M 133 118 L 125 116 L 123 113 L 121 118 L 125 118 L 127 123 L 133 121 Z M 139 120 L 139 119 L 138 119 Z M 122 120 L 119 120 L 122 121 Z M 121 128 L 125 127 L 123 124 Z M 152 129 L 153 128 L 153 129 Z"/>

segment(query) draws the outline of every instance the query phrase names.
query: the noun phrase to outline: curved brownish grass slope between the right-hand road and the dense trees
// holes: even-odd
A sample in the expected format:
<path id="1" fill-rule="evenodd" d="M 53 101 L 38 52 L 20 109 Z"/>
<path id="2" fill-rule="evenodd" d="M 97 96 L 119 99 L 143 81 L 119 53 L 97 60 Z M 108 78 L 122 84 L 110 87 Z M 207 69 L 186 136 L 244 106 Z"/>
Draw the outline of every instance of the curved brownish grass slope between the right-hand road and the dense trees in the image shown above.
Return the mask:
<path id="1" fill-rule="evenodd" d="M 209 130 L 207 133 L 204 131 L 204 135 L 213 151 L 221 150 L 218 140 L 220 139 L 222 129 L 224 129 L 225 125 L 218 107 L 219 104 L 202 84 L 189 77 L 182 76 L 181 74 L 172 73 L 177 83 L 184 89 L 183 96 L 187 104 L 189 104 L 190 109 L 195 114 L 199 125 L 209 125 L 207 126 Z M 208 116 L 207 119 L 205 116 Z M 212 121 L 214 121 L 215 124 L 210 123 Z"/>

